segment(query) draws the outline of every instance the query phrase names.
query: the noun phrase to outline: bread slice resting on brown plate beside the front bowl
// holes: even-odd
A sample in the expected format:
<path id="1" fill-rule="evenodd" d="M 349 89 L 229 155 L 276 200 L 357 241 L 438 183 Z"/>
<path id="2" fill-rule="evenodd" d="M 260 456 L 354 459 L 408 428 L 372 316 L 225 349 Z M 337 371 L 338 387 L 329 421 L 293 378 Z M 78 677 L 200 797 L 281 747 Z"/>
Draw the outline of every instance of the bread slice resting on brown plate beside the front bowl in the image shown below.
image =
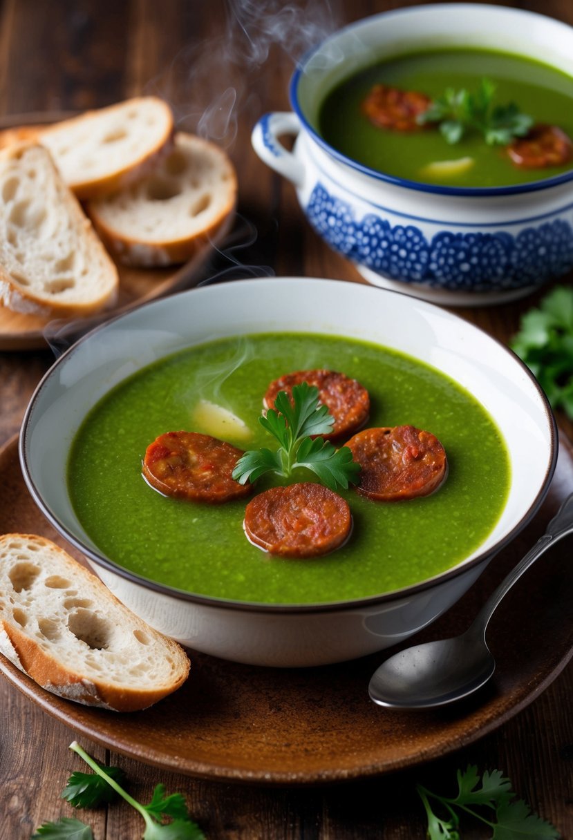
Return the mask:
<path id="1" fill-rule="evenodd" d="M 189 672 L 176 642 L 33 534 L 0 537 L 0 653 L 45 690 L 114 711 L 151 706 Z"/>

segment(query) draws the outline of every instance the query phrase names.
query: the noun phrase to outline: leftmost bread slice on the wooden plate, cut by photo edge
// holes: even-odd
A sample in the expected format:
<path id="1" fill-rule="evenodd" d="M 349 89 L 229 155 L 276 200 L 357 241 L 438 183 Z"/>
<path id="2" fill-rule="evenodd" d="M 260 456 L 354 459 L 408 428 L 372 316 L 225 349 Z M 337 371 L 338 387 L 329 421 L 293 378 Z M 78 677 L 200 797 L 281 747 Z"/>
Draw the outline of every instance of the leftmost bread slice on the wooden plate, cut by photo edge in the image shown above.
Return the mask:
<path id="1" fill-rule="evenodd" d="M 0 301 L 66 317 L 115 302 L 118 270 L 44 146 L 0 151 Z"/>

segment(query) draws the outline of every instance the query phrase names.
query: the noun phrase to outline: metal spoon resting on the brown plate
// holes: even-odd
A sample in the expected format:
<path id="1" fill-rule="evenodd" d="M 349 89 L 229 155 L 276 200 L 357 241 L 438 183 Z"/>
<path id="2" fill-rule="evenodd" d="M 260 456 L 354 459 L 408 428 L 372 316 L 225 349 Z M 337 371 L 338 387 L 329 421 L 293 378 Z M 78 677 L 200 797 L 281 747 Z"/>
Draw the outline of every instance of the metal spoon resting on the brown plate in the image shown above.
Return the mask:
<path id="1" fill-rule="evenodd" d="M 401 650 L 376 669 L 368 692 L 379 706 L 427 709 L 466 697 L 492 676 L 496 662 L 486 644 L 487 625 L 502 598 L 549 545 L 573 532 L 573 494 L 533 549 L 507 575 L 461 636 Z"/>

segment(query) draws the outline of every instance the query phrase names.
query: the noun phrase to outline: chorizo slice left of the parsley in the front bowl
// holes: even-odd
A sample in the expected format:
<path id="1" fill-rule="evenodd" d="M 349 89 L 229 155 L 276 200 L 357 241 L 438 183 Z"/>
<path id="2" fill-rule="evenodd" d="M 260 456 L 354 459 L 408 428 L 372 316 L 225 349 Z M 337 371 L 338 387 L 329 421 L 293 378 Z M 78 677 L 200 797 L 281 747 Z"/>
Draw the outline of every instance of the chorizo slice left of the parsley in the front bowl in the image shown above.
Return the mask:
<path id="1" fill-rule="evenodd" d="M 253 490 L 231 475 L 243 454 L 208 434 L 167 432 L 145 450 L 143 475 L 166 496 L 218 504 L 244 498 Z"/>

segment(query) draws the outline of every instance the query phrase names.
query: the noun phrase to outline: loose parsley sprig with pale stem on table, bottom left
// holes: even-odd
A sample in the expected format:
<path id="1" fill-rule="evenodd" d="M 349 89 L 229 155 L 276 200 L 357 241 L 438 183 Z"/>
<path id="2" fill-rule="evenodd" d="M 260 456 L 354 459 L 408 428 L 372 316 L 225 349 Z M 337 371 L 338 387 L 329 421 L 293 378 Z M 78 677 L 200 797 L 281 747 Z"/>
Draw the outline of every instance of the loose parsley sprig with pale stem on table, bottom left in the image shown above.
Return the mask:
<path id="1" fill-rule="evenodd" d="M 124 779 L 122 770 L 98 764 L 76 741 L 70 744 L 70 749 L 81 756 L 94 773 L 71 774 L 62 791 L 62 799 L 76 808 L 93 808 L 119 795 L 143 816 L 143 840 L 205 840 L 202 830 L 189 816 L 185 799 L 180 793 L 166 796 L 165 785 L 156 785 L 150 803 L 142 805 L 119 784 Z M 161 822 L 166 816 L 171 817 L 172 822 Z M 62 816 L 57 822 L 45 822 L 32 835 L 32 840 L 34 837 L 44 837 L 45 840 L 93 840 L 93 833 L 84 822 Z"/>

